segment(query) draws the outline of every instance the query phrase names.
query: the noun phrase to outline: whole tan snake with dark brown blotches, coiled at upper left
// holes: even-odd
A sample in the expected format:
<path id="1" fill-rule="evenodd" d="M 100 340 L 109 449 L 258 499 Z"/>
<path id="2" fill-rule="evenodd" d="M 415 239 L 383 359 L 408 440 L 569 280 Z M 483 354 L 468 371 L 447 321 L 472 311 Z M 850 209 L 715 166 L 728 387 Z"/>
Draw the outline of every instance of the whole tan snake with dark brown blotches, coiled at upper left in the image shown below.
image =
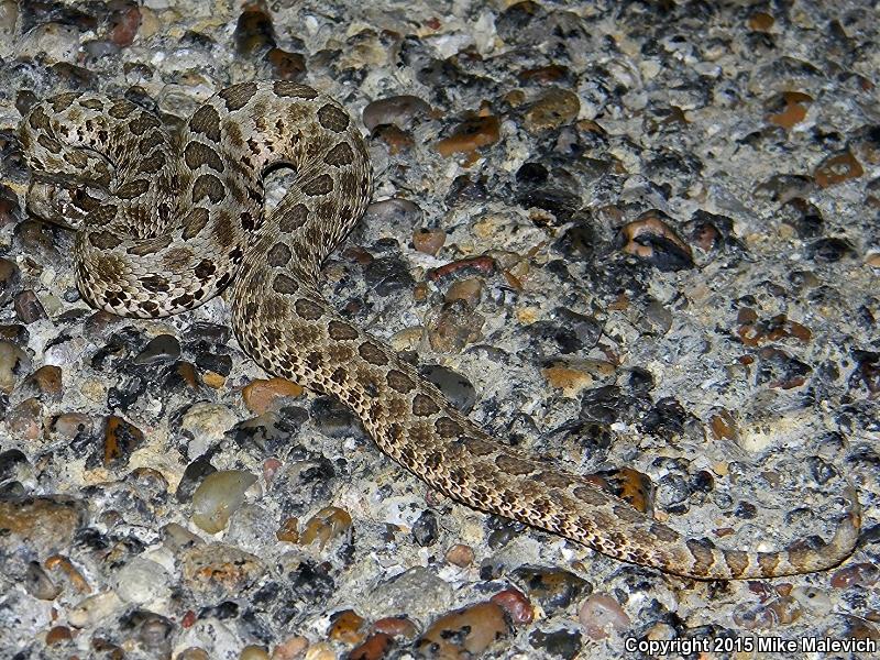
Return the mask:
<path id="1" fill-rule="evenodd" d="M 129 101 L 63 94 L 35 106 L 20 134 L 33 172 L 29 208 L 77 230 L 76 280 L 89 304 L 157 318 L 231 286 L 235 337 L 257 364 L 339 397 L 385 453 L 458 502 L 702 580 L 817 571 L 855 547 L 851 488 L 829 542 L 747 552 L 688 539 L 584 477 L 494 441 L 341 318 L 320 293 L 320 266 L 362 216 L 372 175 L 348 112 L 310 87 L 223 89 L 178 141 Z M 263 175 L 279 164 L 297 178 L 264 217 Z"/>

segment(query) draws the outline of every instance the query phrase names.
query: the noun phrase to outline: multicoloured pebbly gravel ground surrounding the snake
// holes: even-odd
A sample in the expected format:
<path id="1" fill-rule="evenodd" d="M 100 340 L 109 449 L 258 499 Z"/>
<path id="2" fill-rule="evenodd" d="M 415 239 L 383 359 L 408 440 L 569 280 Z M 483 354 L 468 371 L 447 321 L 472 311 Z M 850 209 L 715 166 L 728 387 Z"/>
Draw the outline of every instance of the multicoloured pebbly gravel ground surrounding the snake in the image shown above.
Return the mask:
<path id="1" fill-rule="evenodd" d="M 879 24 L 850 0 L 0 0 L 0 658 L 880 645 Z M 22 114 L 90 90 L 179 127 L 254 78 L 359 119 L 373 205 L 327 295 L 499 441 L 728 548 L 827 538 L 848 481 L 854 556 L 625 564 L 431 492 L 255 366 L 222 298 L 90 309 L 73 235 L 25 206 Z"/>

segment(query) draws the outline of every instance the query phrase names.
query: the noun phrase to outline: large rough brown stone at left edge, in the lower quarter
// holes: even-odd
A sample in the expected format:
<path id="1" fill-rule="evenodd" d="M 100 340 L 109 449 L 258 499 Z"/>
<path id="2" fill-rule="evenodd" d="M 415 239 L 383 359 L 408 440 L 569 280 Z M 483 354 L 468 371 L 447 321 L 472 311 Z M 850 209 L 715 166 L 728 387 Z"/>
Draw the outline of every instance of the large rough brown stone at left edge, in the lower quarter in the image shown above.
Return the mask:
<path id="1" fill-rule="evenodd" d="M 62 495 L 0 499 L 0 549 L 13 554 L 22 546 L 40 557 L 69 547 L 82 524 L 84 506 Z"/>

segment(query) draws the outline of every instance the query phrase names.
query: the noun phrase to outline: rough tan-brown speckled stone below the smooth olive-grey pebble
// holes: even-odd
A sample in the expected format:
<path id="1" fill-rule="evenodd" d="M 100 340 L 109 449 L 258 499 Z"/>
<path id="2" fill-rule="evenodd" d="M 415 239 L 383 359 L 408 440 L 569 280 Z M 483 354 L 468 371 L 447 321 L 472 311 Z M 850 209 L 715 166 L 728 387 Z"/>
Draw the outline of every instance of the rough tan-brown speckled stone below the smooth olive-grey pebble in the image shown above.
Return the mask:
<path id="1" fill-rule="evenodd" d="M 239 597 L 263 576 L 261 559 L 224 543 L 205 543 L 184 551 L 180 557 L 184 585 L 207 598 Z"/>

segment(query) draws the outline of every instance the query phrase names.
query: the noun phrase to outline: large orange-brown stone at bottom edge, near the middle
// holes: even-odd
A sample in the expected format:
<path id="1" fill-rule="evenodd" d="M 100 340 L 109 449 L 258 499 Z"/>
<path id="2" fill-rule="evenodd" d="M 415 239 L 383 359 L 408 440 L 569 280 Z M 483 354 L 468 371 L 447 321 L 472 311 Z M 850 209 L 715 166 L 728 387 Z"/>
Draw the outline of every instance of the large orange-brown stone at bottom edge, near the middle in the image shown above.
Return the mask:
<path id="1" fill-rule="evenodd" d="M 501 606 L 477 603 L 433 622 L 416 640 L 416 649 L 433 658 L 479 657 L 494 641 L 509 634 L 510 627 Z"/>

